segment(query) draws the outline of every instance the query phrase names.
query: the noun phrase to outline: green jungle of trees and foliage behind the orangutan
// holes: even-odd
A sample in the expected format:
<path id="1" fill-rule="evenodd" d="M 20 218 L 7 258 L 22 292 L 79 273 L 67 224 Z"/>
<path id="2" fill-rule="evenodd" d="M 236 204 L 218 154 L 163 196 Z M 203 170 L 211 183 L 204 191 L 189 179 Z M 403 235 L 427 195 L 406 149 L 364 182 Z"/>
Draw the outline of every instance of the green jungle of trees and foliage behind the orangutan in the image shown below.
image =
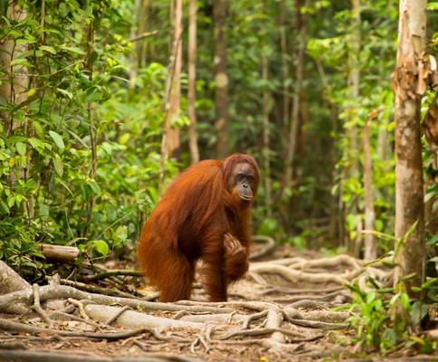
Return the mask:
<path id="1" fill-rule="evenodd" d="M 132 262 L 177 173 L 235 152 L 262 170 L 254 234 L 325 256 L 394 250 L 398 1 L 0 3 L 0 259 L 26 281 L 71 271 L 42 244 L 79 248 L 76 267 Z M 438 3 L 427 3 L 433 74 Z M 419 98 L 433 288 L 433 83 Z"/>

